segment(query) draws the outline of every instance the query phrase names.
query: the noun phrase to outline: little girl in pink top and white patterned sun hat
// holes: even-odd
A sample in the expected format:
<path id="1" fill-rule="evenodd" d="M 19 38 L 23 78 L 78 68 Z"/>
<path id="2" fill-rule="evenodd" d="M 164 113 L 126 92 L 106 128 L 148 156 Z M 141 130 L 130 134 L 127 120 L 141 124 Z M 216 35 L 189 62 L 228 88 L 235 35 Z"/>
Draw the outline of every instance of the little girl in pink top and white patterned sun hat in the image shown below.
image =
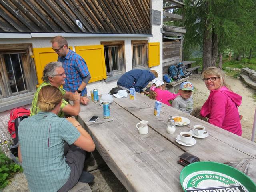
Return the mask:
<path id="1" fill-rule="evenodd" d="M 168 106 L 172 106 L 169 101 L 174 100 L 178 95 L 165 90 L 165 87 L 166 85 L 161 79 L 153 79 L 152 86 L 150 87 L 149 98 L 160 101 Z"/>

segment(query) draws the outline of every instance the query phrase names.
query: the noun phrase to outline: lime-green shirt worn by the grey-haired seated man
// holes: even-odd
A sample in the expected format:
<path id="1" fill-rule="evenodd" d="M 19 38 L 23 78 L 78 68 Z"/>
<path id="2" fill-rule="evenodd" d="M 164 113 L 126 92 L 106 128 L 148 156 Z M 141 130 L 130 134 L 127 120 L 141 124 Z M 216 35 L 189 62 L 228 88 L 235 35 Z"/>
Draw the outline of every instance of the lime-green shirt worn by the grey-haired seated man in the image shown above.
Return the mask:
<path id="1" fill-rule="evenodd" d="M 39 93 L 39 91 L 42 89 L 42 87 L 44 87 L 44 86 L 46 86 L 46 85 L 52 85 L 52 84 L 43 82 L 43 83 L 38 87 L 38 89 L 36 90 L 34 99 L 33 99 L 33 101 L 32 101 L 30 116 L 36 115 L 36 114 L 38 114 L 38 112 L 41 111 L 41 110 L 38 108 L 38 106 L 37 106 L 37 104 L 38 104 L 38 93 Z M 63 88 L 61 88 L 61 87 L 59 87 L 59 90 L 60 90 L 62 96 L 66 93 L 66 91 L 65 91 Z M 68 102 L 66 102 L 64 99 L 62 99 L 62 104 L 61 104 L 61 106 L 60 106 L 60 109 L 63 109 L 67 104 L 68 104 Z M 64 112 L 60 111 L 60 112 L 58 113 L 58 116 L 59 116 L 59 117 L 64 117 Z"/>

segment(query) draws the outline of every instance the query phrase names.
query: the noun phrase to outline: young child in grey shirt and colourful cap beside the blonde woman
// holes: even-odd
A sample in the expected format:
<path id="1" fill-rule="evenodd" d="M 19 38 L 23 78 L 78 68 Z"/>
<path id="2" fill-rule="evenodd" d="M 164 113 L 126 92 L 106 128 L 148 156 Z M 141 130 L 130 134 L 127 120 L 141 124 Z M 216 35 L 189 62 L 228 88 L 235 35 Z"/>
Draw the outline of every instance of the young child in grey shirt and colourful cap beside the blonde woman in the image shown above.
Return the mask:
<path id="1" fill-rule="evenodd" d="M 194 86 L 192 83 L 183 82 L 179 89 L 180 95 L 174 99 L 172 107 L 190 114 L 193 110 L 193 99 L 191 96 L 193 91 Z"/>

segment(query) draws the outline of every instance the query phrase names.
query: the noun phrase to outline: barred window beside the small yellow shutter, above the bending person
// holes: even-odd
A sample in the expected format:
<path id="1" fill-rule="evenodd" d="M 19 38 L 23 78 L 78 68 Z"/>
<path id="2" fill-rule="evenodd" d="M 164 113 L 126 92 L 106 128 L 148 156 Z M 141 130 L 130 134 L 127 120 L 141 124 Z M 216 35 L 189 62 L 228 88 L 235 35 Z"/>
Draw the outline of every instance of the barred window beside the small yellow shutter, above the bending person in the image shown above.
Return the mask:
<path id="1" fill-rule="evenodd" d="M 132 68 L 145 68 L 147 62 L 147 41 L 132 41 Z"/>

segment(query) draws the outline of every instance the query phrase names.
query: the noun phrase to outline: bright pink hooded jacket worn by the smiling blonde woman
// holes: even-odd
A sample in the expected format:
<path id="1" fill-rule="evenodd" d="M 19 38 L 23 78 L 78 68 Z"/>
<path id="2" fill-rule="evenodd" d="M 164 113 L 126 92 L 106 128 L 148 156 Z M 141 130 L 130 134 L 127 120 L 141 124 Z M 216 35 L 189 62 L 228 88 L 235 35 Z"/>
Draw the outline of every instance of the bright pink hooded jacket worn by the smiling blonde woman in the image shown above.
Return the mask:
<path id="1" fill-rule="evenodd" d="M 242 97 L 225 86 L 218 90 L 211 90 L 202 106 L 201 116 L 208 117 L 210 124 L 241 136 L 242 128 L 237 108 L 241 102 Z"/>

